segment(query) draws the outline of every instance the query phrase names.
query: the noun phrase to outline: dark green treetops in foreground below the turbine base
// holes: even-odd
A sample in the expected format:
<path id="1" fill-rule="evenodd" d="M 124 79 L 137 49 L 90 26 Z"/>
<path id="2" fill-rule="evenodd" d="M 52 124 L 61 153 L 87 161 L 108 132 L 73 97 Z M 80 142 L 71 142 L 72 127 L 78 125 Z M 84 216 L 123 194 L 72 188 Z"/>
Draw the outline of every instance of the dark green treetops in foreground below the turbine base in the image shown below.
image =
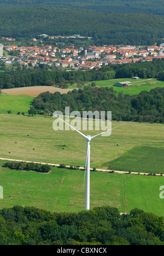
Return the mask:
<path id="1" fill-rule="evenodd" d="M 163 217 L 134 208 L 95 207 L 51 213 L 34 207 L 0 210 L 0 245 L 164 245 Z"/>

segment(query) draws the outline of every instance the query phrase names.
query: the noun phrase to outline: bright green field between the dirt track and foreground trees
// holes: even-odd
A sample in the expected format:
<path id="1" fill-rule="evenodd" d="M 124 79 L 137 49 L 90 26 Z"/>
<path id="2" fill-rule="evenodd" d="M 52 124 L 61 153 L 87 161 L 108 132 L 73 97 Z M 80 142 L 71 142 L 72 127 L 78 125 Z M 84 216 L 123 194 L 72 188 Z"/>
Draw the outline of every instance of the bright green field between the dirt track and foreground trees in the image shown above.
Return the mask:
<path id="1" fill-rule="evenodd" d="M 0 208 L 14 205 L 34 206 L 49 211 L 83 211 L 84 171 L 52 167 L 50 173 L 16 171 L 2 167 L 0 184 L 3 200 Z M 137 207 L 163 216 L 160 186 L 164 177 L 138 176 L 107 172 L 90 173 L 90 207 L 113 206 L 128 213 Z"/>

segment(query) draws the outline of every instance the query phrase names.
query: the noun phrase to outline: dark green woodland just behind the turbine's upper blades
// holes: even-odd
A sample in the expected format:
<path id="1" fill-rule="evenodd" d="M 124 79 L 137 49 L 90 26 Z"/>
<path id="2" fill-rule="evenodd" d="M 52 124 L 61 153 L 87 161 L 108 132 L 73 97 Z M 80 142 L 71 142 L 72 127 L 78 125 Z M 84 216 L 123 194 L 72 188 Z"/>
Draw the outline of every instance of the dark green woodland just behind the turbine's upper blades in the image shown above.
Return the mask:
<path id="1" fill-rule="evenodd" d="M 74 89 L 68 94 L 44 92 L 34 98 L 31 113 L 48 114 L 60 110 L 65 113 L 65 107 L 70 111 L 83 110 L 112 111 L 112 120 L 164 123 L 164 88 L 142 91 L 139 95 L 129 96 L 117 93 L 113 88 Z"/>

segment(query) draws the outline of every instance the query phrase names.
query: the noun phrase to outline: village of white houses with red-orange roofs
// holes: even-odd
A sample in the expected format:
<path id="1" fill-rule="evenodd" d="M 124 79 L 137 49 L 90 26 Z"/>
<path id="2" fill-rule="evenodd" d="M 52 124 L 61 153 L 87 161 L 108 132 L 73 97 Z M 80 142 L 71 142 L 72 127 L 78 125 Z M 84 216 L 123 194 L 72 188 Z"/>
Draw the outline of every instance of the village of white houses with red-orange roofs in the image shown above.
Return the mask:
<path id="1" fill-rule="evenodd" d="M 70 36 L 80 37 L 79 35 Z M 51 37 L 62 38 L 61 36 Z M 64 37 L 63 37 L 64 38 Z M 49 67 L 56 67 L 57 69 L 66 69 L 74 71 L 85 71 L 87 69 L 99 69 L 104 65 L 125 64 L 134 62 L 153 61 L 154 59 L 163 59 L 164 55 L 160 54 L 163 47 L 160 46 L 134 46 L 134 45 L 103 45 L 76 48 L 73 44 L 66 46 L 66 48 L 58 45 L 44 45 L 44 46 L 19 46 L 8 45 L 8 42 L 15 41 L 14 38 L 2 38 L 4 40 L 3 50 L 8 54 L 1 56 L 0 61 L 5 65 L 13 65 L 15 62 L 20 66 L 36 67 L 38 65 L 48 65 Z M 33 42 L 39 41 L 36 38 Z M 3 43 L 3 41 L 2 41 Z M 58 47 L 57 47 L 58 46 Z M 16 53 L 16 54 L 10 54 Z"/>

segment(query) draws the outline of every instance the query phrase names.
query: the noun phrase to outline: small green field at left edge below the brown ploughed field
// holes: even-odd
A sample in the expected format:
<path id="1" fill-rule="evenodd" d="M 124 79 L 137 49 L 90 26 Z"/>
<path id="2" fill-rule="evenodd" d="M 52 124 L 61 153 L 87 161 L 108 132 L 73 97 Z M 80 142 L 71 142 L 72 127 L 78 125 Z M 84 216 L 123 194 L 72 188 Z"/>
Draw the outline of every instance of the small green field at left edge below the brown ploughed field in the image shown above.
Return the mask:
<path id="1" fill-rule="evenodd" d="M 11 110 L 13 114 L 17 112 L 27 113 L 33 97 L 28 95 L 0 95 L 0 113 L 7 113 Z"/>

